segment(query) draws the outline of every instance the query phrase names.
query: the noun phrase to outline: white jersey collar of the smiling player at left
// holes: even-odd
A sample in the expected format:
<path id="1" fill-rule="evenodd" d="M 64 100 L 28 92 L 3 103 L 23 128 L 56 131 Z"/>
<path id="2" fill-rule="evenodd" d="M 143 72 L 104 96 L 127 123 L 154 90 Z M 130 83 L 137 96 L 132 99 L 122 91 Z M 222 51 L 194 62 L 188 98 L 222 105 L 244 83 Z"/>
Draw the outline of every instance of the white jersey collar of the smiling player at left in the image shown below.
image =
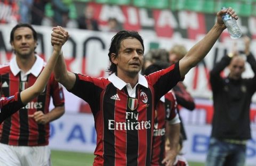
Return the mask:
<path id="1" fill-rule="evenodd" d="M 35 56 L 36 56 L 36 62 L 34 63 L 33 67 L 27 72 L 27 74 L 31 73 L 35 77 L 38 77 L 44 67 L 44 60 L 38 55 L 35 55 Z M 10 69 L 14 76 L 17 76 L 17 74 L 21 71 L 20 68 L 18 67 L 16 57 L 14 57 L 10 61 Z"/>

